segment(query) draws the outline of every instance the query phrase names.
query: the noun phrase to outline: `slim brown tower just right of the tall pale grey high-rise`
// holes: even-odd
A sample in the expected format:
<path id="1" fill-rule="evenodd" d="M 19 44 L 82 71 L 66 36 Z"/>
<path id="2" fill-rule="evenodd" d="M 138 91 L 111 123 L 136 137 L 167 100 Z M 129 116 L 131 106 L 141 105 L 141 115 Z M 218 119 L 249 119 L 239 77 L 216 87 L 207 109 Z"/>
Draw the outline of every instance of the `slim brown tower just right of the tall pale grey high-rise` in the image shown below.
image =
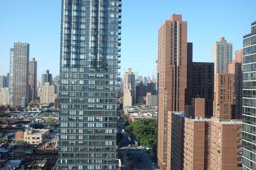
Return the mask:
<path id="1" fill-rule="evenodd" d="M 36 100 L 36 78 L 37 78 L 37 61 L 32 58 L 29 61 L 29 89 L 30 100 Z"/>

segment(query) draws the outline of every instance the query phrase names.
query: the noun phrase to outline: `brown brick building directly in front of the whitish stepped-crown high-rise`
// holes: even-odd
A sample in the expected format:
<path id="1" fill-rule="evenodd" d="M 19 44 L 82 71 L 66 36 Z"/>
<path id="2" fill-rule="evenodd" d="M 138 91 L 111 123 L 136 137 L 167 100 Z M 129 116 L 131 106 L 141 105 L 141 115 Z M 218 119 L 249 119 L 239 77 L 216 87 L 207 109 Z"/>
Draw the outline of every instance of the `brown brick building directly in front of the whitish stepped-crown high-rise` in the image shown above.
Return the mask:
<path id="1" fill-rule="evenodd" d="M 235 110 L 235 74 L 215 74 L 213 117 L 231 119 Z"/>

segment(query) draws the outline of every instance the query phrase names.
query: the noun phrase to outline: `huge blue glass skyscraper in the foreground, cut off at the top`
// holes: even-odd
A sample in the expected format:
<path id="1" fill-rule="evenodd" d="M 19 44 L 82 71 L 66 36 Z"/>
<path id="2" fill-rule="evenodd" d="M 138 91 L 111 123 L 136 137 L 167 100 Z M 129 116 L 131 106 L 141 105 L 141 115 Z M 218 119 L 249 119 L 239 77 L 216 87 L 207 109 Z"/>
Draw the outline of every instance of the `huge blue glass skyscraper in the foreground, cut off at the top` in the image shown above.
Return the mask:
<path id="1" fill-rule="evenodd" d="M 63 0 L 60 169 L 116 169 L 121 0 Z"/>

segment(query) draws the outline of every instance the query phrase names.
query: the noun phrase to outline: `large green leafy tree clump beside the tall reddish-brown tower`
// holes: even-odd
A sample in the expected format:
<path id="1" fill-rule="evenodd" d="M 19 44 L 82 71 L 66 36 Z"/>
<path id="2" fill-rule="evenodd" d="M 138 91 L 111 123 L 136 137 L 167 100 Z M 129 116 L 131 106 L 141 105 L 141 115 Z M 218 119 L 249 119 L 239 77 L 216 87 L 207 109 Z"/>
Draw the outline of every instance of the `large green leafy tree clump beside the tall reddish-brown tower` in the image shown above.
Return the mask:
<path id="1" fill-rule="evenodd" d="M 126 127 L 131 131 L 134 137 L 140 141 L 141 145 L 147 148 L 156 148 L 157 146 L 157 120 L 145 118 L 136 120 Z"/>

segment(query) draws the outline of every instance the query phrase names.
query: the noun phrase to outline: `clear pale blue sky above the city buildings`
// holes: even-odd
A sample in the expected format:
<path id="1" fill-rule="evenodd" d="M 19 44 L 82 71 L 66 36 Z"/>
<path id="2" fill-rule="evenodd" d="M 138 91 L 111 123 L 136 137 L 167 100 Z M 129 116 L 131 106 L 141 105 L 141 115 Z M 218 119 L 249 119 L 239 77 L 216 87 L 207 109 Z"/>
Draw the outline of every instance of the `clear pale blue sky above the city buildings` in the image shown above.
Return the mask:
<path id="1" fill-rule="evenodd" d="M 255 0 L 123 0 L 121 73 L 132 67 L 140 75 L 152 76 L 157 29 L 173 13 L 188 21 L 194 61 L 211 62 L 212 43 L 220 36 L 239 50 L 256 20 L 255 6 Z M 10 48 L 17 41 L 30 44 L 38 78 L 46 69 L 54 76 L 59 73 L 61 0 L 0 1 L 0 16 L 0 74 L 8 73 Z"/>

